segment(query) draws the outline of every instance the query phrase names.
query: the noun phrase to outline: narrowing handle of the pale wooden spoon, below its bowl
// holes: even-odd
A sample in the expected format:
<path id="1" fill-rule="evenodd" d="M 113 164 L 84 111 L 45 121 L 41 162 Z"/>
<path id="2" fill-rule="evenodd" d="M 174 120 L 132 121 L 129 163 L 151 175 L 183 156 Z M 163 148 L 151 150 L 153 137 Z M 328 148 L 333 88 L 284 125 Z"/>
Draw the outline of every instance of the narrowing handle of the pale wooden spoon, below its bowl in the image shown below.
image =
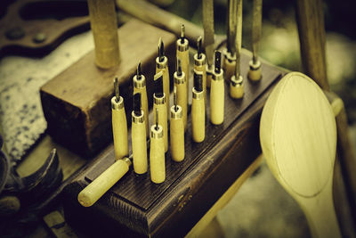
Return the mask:
<path id="1" fill-rule="evenodd" d="M 303 197 L 295 194 L 311 228 L 312 237 L 341 237 L 332 196 L 332 176 L 320 193 L 313 197 Z"/>

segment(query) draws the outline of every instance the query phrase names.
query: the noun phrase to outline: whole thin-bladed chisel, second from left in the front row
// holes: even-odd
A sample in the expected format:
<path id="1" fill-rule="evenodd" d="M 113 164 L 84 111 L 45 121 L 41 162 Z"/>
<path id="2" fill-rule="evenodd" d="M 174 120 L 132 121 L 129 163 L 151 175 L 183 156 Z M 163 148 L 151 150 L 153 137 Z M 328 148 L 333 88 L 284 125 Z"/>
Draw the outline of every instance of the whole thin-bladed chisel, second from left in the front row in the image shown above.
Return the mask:
<path id="1" fill-rule="evenodd" d="M 184 124 L 182 120 L 182 107 L 177 102 L 176 86 L 174 86 L 174 105 L 171 107 L 170 138 L 172 159 L 176 162 L 180 162 L 185 156 Z"/>

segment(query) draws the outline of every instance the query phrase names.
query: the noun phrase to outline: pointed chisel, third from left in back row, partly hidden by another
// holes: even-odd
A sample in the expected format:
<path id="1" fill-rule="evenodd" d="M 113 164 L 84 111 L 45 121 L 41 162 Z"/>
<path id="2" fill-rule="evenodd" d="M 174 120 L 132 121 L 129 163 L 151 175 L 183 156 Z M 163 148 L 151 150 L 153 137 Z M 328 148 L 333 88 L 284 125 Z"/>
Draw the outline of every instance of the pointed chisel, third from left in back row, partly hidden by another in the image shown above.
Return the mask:
<path id="1" fill-rule="evenodd" d="M 166 94 L 166 111 L 169 111 L 169 70 L 168 58 L 165 55 L 165 46 L 162 38 L 158 41 L 158 57 L 156 58 L 156 74 L 162 72 L 163 74 L 163 92 Z M 168 116 L 166 119 L 169 119 Z"/>

